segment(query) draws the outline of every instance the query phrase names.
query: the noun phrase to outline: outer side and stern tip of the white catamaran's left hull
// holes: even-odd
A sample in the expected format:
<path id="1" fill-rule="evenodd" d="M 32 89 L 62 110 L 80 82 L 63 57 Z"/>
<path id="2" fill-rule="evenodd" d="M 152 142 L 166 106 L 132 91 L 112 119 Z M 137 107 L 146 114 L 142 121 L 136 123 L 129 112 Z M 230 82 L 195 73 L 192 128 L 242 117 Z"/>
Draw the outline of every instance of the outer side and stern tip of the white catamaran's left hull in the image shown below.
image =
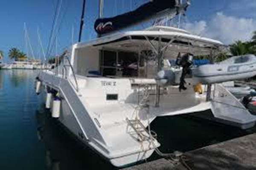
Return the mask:
<path id="1" fill-rule="evenodd" d="M 77 95 L 75 95 L 70 82 L 67 79 L 62 79 L 44 72 L 41 72 L 39 78 L 44 86 L 55 89 L 59 92 L 60 98 L 62 98 L 58 121 L 75 135 L 82 144 L 95 150 L 96 153 L 110 161 L 113 166 L 124 167 L 135 164 L 137 161 L 145 160 L 145 158 L 148 158 L 154 152 L 154 147 L 146 148 L 145 144 L 144 149 L 141 149 L 140 146 L 131 148 L 127 152 L 119 151 L 118 153 L 111 153 L 104 146 L 105 141 L 99 130 L 97 130 L 99 127 L 92 121 L 84 106 L 80 104 L 81 102 Z M 160 144 L 156 143 L 155 146 L 158 147 Z"/>

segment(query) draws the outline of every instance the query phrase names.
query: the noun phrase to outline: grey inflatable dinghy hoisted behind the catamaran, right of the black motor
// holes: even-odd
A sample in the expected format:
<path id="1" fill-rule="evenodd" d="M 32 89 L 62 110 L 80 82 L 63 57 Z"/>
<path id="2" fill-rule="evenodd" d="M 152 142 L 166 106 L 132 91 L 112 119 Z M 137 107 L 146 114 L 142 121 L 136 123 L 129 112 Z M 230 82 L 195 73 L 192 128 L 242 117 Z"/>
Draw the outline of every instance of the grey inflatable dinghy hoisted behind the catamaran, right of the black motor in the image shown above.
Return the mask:
<path id="1" fill-rule="evenodd" d="M 195 67 L 192 72 L 202 84 L 250 78 L 256 75 L 256 56 L 235 56 L 220 63 Z"/>

